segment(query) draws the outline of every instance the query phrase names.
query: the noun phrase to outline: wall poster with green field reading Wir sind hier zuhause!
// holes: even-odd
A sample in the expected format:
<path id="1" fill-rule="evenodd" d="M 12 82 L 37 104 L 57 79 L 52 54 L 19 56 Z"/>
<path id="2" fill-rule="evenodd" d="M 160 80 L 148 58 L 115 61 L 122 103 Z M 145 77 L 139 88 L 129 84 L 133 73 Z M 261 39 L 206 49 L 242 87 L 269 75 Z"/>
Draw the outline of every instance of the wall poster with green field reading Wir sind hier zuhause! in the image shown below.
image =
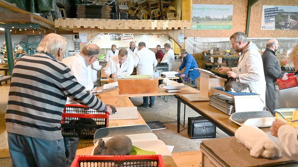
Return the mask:
<path id="1" fill-rule="evenodd" d="M 190 29 L 232 29 L 233 5 L 193 4 Z"/>

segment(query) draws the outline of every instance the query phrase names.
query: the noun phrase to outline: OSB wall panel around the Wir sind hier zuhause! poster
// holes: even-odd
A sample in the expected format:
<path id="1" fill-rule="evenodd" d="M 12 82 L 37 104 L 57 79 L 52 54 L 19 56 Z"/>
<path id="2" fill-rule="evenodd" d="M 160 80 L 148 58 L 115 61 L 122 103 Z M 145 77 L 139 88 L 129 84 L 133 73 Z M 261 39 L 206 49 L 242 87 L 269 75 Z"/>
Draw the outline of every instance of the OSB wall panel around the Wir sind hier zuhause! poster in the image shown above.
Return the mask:
<path id="1" fill-rule="evenodd" d="M 231 30 L 185 30 L 185 37 L 230 37 L 246 31 L 247 0 L 193 0 L 193 4 L 233 5 L 233 25 Z"/>

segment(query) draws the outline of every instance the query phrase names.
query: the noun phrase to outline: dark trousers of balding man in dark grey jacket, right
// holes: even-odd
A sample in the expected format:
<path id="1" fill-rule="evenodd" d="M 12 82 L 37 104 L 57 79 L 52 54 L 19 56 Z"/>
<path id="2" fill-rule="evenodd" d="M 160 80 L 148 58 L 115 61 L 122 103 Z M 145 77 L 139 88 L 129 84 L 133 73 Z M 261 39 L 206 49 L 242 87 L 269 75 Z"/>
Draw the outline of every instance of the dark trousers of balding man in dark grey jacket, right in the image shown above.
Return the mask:
<path id="1" fill-rule="evenodd" d="M 266 83 L 266 106 L 275 116 L 275 84 Z"/>

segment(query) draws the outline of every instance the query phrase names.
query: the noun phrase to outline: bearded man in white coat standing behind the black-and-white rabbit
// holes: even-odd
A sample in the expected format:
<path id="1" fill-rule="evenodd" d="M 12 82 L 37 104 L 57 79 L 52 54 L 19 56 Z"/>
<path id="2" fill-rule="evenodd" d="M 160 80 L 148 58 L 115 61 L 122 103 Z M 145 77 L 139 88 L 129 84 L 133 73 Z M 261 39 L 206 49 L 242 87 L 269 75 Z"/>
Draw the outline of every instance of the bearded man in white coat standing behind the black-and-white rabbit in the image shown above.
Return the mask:
<path id="1" fill-rule="evenodd" d="M 227 72 L 228 77 L 236 78 L 241 83 L 247 83 L 252 91 L 259 94 L 260 111 L 265 107 L 266 81 L 263 69 L 263 60 L 259 48 L 252 42 L 247 41 L 243 32 L 236 32 L 230 37 L 232 48 L 241 53 L 237 67 L 218 69 L 219 72 Z M 254 104 L 252 104 L 254 105 Z"/>

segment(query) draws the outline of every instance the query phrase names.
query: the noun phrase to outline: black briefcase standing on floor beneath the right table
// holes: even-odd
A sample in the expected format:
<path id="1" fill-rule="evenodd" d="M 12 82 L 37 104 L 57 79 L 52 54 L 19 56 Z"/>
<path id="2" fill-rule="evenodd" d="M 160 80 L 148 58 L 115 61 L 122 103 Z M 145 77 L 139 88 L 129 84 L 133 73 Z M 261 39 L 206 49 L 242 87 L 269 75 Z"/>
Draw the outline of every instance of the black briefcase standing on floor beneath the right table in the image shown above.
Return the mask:
<path id="1" fill-rule="evenodd" d="M 187 134 L 190 139 L 215 138 L 216 126 L 203 116 L 188 117 Z"/>

